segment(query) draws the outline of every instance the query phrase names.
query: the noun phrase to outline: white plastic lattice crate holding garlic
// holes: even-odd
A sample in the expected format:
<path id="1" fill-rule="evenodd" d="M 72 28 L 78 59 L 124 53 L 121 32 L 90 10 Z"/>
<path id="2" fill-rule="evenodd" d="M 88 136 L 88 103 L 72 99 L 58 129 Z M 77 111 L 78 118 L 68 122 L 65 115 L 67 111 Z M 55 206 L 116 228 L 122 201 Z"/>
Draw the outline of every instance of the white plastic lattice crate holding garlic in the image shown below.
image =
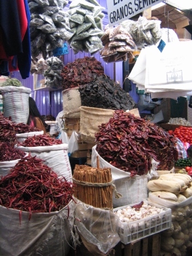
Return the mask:
<path id="1" fill-rule="evenodd" d="M 148 205 L 158 207 L 163 209 L 162 213 L 153 215 L 151 217 L 139 219 L 133 222 L 121 222 L 119 221 L 118 234 L 121 238 L 121 242 L 125 245 L 130 242 L 134 242 L 138 239 L 148 237 L 165 229 L 170 229 L 171 227 L 171 209 L 156 205 L 154 203 L 148 202 Z M 136 205 L 134 203 L 129 206 Z M 113 209 L 113 211 L 121 210 L 126 208 L 126 206 L 118 207 Z"/>

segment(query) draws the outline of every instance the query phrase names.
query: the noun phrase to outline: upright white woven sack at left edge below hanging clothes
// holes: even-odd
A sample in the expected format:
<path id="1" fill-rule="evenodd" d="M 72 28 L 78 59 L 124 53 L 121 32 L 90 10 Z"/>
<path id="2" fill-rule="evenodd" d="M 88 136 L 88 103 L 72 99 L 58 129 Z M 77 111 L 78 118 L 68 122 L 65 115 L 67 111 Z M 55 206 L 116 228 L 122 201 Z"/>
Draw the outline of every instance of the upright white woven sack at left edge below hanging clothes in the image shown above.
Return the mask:
<path id="1" fill-rule="evenodd" d="M 15 123 L 27 123 L 31 89 L 23 86 L 5 86 L 0 87 L 0 92 L 3 95 L 3 115 L 11 117 L 11 121 Z"/>

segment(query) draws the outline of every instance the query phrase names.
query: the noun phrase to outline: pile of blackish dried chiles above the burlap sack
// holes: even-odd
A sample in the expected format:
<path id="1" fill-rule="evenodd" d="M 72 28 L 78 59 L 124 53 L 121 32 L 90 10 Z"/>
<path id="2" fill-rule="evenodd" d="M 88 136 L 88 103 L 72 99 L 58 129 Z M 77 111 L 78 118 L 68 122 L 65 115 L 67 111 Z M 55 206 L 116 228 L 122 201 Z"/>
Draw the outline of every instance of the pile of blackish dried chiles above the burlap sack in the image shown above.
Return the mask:
<path id="1" fill-rule="evenodd" d="M 114 110 L 131 110 L 137 107 L 126 91 L 104 74 L 87 85 L 79 86 L 79 91 L 82 106 Z"/>

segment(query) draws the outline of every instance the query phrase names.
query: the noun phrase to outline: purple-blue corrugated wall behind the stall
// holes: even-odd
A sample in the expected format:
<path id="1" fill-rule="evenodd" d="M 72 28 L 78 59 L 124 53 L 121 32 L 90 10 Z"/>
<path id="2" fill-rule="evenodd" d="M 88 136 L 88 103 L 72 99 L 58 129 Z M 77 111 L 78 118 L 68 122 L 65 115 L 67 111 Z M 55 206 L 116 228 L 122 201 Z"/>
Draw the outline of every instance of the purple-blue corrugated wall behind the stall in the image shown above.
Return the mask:
<path id="1" fill-rule="evenodd" d="M 69 1 L 70 4 L 71 1 Z M 103 18 L 103 29 L 108 23 L 107 17 L 107 4 L 106 0 L 98 0 L 101 6 L 105 7 L 103 13 L 105 13 L 105 18 Z M 68 6 L 65 7 L 66 10 L 69 9 Z M 72 49 L 69 49 L 69 54 L 64 55 L 64 65 L 68 62 L 73 62 L 77 58 L 84 58 L 85 56 L 90 57 L 88 53 L 78 53 L 74 54 Z M 95 54 L 94 57 L 102 63 L 104 67 L 104 72 L 114 81 L 119 81 L 122 86 L 122 62 L 117 63 L 105 63 L 102 58 L 100 58 L 99 54 Z M 41 115 L 53 115 L 57 117 L 58 113 L 62 111 L 62 90 L 57 91 L 43 91 L 36 90 L 34 91 L 34 81 L 33 75 L 30 75 L 29 78 L 22 79 L 19 71 L 13 72 L 13 77 L 19 79 L 22 82 L 23 86 L 26 86 L 31 89 L 31 97 L 33 97 L 37 103 L 37 107 L 41 113 Z"/>

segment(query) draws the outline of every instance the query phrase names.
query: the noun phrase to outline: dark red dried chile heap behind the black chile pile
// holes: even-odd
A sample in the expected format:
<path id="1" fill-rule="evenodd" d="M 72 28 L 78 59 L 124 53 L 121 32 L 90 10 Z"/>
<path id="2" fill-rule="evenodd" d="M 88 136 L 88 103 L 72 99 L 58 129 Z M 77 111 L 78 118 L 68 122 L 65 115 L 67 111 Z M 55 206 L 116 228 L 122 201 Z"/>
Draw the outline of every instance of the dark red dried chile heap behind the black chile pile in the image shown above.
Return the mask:
<path id="1" fill-rule="evenodd" d="M 94 57 L 75 59 L 68 63 L 61 71 L 63 89 L 78 87 L 93 81 L 98 75 L 104 73 L 101 62 Z"/>

